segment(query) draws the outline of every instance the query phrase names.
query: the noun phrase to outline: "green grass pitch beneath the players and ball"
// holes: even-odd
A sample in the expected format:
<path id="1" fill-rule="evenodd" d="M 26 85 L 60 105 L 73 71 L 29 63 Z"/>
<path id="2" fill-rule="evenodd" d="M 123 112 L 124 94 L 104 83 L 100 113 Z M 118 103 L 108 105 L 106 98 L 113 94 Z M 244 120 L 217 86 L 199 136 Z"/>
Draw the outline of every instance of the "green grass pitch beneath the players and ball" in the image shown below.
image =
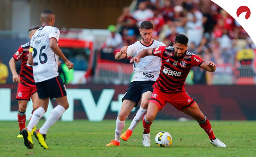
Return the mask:
<path id="1" fill-rule="evenodd" d="M 37 128 L 42 126 L 41 120 Z M 125 129 L 131 120 L 126 120 Z M 115 120 L 89 122 L 55 123 L 48 131 L 44 150 L 33 136 L 34 148 L 27 149 L 23 138 L 18 135 L 18 122 L 0 121 L 0 156 L 256 156 L 256 122 L 255 121 L 211 121 L 214 134 L 223 141 L 227 148 L 218 148 L 210 144 L 207 134 L 196 121 L 155 120 L 151 126 L 151 146 L 143 147 L 143 127 L 140 122 L 132 137 L 121 141 L 119 147 L 106 147 L 114 139 Z M 27 122 L 28 124 L 28 122 Z M 167 131 L 172 135 L 172 146 L 161 148 L 155 144 L 155 135 Z"/>

